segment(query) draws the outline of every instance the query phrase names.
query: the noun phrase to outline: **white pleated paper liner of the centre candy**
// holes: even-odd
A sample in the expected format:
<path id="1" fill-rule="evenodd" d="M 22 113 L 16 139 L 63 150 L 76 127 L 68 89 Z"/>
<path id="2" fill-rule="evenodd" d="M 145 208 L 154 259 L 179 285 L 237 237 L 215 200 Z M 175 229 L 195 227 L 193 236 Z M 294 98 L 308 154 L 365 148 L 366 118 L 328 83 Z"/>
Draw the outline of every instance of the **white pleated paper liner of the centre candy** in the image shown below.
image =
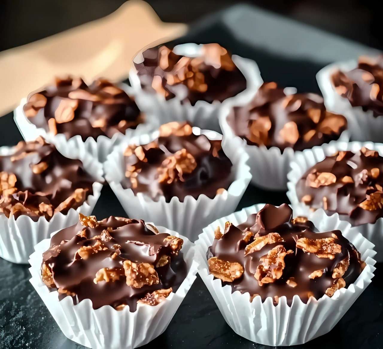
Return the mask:
<path id="1" fill-rule="evenodd" d="M 196 135 L 205 134 L 210 140 L 222 139 L 222 135 L 214 132 L 201 130 L 193 127 Z M 105 179 L 129 217 L 141 217 L 146 221 L 165 226 L 169 229 L 182 232 L 188 239 L 194 241 L 202 228 L 218 217 L 235 211 L 241 200 L 251 175 L 247 166 L 248 156 L 235 142 L 222 141 L 222 148 L 226 156 L 231 160 L 232 183 L 228 190 L 216 195 L 213 199 L 202 194 L 198 199 L 190 195 L 183 202 L 173 197 L 170 202 L 162 196 L 158 201 L 153 201 L 148 195 L 137 193 L 134 195 L 130 188 L 124 189 L 120 182 L 125 176 L 123 152 L 128 144 L 147 144 L 157 138 L 158 131 L 152 135 L 141 135 L 131 138 L 129 142 L 123 142 L 115 148 L 104 163 Z"/>

